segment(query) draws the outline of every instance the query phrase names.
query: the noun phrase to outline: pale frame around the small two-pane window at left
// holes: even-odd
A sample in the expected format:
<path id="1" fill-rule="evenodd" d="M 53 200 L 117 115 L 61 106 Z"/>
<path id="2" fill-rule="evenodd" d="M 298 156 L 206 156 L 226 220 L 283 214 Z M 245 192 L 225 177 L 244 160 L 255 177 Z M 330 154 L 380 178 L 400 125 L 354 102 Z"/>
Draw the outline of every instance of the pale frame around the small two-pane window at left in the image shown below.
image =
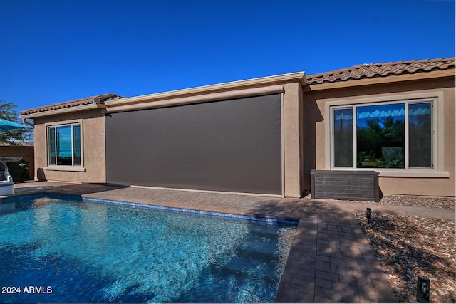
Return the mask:
<path id="1" fill-rule="evenodd" d="M 81 132 L 81 164 L 73 164 L 71 166 L 68 165 L 58 165 L 58 164 L 49 164 L 49 128 L 50 127 L 66 127 L 66 126 L 73 126 L 79 125 L 80 132 Z M 71 128 L 73 130 L 73 127 Z M 76 172 L 86 172 L 86 168 L 84 167 L 84 140 L 83 140 L 83 120 L 66 120 L 62 122 L 50 122 L 44 125 L 44 132 L 46 132 L 46 167 L 44 169 L 50 171 L 76 171 Z M 73 136 L 73 135 L 72 135 Z M 71 141 L 71 145 L 73 146 L 73 140 Z M 73 157 L 72 157 L 73 158 Z"/>

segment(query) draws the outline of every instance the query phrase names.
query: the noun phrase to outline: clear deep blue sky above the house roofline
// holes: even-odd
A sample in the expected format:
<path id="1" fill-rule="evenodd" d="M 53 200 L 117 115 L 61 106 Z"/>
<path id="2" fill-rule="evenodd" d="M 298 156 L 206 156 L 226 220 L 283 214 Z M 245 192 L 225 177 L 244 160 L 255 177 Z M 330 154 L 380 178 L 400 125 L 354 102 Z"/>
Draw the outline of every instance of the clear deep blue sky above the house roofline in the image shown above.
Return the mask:
<path id="1" fill-rule="evenodd" d="M 0 0 L 0 100 L 26 110 L 455 56 L 455 1 Z"/>

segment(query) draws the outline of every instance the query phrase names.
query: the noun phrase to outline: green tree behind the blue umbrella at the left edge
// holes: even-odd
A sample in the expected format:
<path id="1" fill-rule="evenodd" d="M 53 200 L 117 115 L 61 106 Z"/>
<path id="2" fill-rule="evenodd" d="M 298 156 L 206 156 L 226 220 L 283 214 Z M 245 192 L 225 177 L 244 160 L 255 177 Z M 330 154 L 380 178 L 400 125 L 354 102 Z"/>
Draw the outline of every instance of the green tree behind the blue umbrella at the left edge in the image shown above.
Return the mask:
<path id="1" fill-rule="evenodd" d="M 6 103 L 0 100 L 0 118 L 12 122 L 19 121 L 19 112 L 16 111 L 18 106 L 14 103 Z M 33 128 L 14 129 L 0 132 L 0 142 L 6 142 L 9 145 L 22 145 L 22 142 L 29 142 L 33 138 Z"/>

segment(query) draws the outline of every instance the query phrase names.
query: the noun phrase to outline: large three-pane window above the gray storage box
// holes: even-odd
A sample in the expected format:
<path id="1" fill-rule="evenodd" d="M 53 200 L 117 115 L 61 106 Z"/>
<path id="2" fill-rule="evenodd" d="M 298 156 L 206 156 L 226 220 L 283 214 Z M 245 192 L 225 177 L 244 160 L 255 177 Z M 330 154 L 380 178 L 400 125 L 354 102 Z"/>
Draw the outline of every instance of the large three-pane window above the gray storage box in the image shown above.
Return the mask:
<path id="1" fill-rule="evenodd" d="M 333 107 L 332 164 L 432 168 L 432 101 Z"/>

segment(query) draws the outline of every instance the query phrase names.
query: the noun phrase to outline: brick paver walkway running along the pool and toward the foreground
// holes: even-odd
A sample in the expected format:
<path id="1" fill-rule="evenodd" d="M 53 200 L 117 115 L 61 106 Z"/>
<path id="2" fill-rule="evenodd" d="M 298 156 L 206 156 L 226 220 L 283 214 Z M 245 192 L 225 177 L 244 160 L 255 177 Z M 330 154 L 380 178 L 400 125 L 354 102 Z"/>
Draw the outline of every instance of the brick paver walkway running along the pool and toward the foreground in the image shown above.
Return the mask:
<path id="1" fill-rule="evenodd" d="M 359 206 L 314 199 L 279 199 L 98 184 L 37 185 L 40 189 L 33 189 L 33 184 L 19 186 L 16 194 L 46 191 L 135 204 L 296 220 L 299 224 L 276 302 L 397 302 L 385 273 L 353 216 L 354 209 L 366 210 L 366 204 Z M 397 214 L 410 212 L 410 209 L 395 209 L 380 204 L 367 206 L 375 206 L 373 210 L 388 209 Z M 423 210 L 417 212 L 425 213 Z"/>

